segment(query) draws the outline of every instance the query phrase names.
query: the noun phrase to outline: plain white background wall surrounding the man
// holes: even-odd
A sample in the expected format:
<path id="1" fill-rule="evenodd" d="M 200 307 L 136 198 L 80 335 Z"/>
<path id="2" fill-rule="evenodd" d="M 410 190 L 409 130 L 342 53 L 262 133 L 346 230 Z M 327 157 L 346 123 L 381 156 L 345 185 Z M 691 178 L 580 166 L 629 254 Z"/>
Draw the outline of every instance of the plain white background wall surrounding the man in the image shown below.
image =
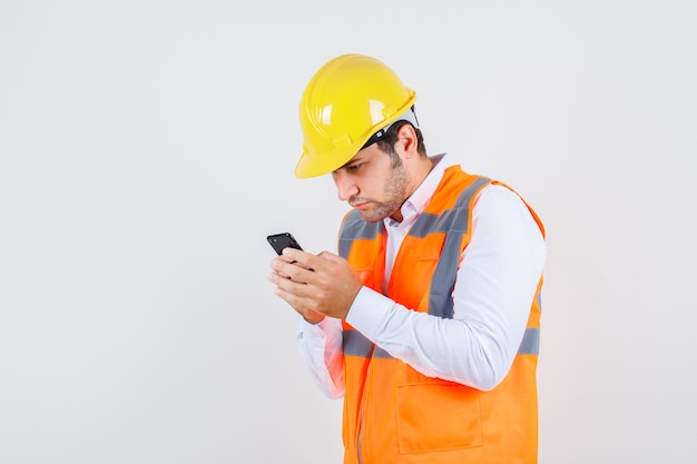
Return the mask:
<path id="1" fill-rule="evenodd" d="M 693 463 L 693 1 L 0 1 L 0 462 L 338 463 L 265 236 L 314 71 L 375 56 L 429 152 L 548 230 L 540 462 Z"/>

